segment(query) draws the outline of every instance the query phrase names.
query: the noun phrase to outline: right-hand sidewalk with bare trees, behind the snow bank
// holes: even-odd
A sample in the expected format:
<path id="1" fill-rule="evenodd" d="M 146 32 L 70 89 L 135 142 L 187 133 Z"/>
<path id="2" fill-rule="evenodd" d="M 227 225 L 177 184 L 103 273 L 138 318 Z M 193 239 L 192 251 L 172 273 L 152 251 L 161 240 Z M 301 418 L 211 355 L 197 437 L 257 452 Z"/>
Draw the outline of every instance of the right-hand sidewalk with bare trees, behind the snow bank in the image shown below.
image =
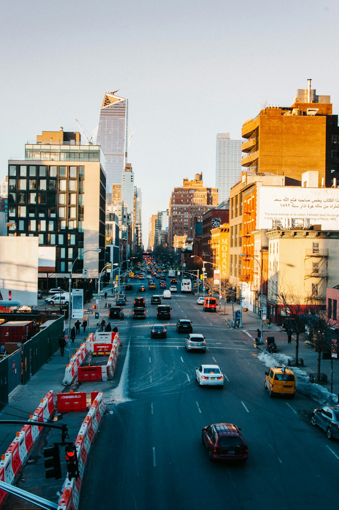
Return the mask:
<path id="1" fill-rule="evenodd" d="M 238 308 L 238 307 L 237 307 Z M 226 315 L 224 315 L 224 307 L 222 305 L 221 312 L 217 312 L 220 317 L 225 319 L 225 322 L 228 321 L 230 323 L 232 321 L 232 304 L 226 304 Z M 257 338 L 257 329 L 260 329 L 260 318 L 253 312 L 243 312 L 243 331 L 247 331 L 253 338 L 253 343 L 255 343 L 255 339 Z M 238 329 L 236 328 L 235 331 Z M 272 323 L 270 326 L 268 324 L 263 324 L 262 327 L 262 336 L 263 336 L 263 344 L 260 344 L 258 347 L 260 350 L 264 351 L 265 349 L 265 337 L 274 336 L 275 342 L 277 344 L 278 353 L 285 354 L 288 358 L 295 358 L 296 356 L 296 336 L 292 336 L 292 343 L 287 343 L 287 334 L 286 332 L 276 324 Z M 304 367 L 300 367 L 301 370 L 307 372 L 307 375 L 310 373 L 317 373 L 318 371 L 318 352 L 315 352 L 312 347 L 309 345 L 305 345 L 305 340 L 307 340 L 305 335 L 300 335 L 299 337 L 299 354 L 298 358 L 302 358 L 304 361 Z M 292 367 L 291 367 L 292 368 Z M 293 370 L 293 368 L 292 368 Z M 322 387 L 326 388 L 328 391 L 331 391 L 331 360 L 323 360 L 321 359 L 320 370 L 322 373 L 325 373 L 328 377 L 328 383 L 326 385 L 322 385 Z M 334 394 L 339 394 L 339 366 L 336 360 L 333 360 L 333 389 L 332 392 Z"/>

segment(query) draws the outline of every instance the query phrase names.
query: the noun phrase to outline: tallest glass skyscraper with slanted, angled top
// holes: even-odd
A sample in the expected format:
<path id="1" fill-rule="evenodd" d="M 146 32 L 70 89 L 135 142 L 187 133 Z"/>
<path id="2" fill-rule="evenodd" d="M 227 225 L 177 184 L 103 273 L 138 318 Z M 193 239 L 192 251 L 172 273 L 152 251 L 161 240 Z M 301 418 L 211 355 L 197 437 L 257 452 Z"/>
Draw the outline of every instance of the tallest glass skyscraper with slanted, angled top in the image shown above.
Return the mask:
<path id="1" fill-rule="evenodd" d="M 128 99 L 105 92 L 100 110 L 96 143 L 105 155 L 106 193 L 112 193 L 112 184 L 121 184 L 127 161 Z"/>

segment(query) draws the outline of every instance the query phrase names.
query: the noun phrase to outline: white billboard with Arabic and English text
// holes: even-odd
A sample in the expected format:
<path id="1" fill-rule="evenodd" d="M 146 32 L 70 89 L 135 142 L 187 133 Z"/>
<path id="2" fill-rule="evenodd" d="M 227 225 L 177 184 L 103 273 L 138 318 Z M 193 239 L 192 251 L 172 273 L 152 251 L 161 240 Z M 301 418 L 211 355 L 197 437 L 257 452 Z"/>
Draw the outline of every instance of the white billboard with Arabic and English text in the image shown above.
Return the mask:
<path id="1" fill-rule="evenodd" d="M 292 228 L 320 224 L 337 230 L 339 192 L 336 188 L 260 186 L 256 228 Z"/>

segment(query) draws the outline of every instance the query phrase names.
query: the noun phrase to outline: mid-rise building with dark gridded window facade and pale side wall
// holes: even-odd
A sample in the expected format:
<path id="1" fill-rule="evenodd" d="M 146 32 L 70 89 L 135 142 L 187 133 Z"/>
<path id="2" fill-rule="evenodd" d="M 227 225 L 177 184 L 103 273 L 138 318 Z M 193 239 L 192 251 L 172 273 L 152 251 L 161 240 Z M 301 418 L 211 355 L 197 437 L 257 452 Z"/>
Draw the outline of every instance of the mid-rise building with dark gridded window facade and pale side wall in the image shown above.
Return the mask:
<path id="1" fill-rule="evenodd" d="M 25 145 L 24 160 L 8 162 L 8 220 L 17 236 L 56 248 L 54 277 L 83 268 L 97 278 L 105 265 L 105 158 L 79 133 L 42 132 Z M 9 235 L 14 235 L 10 234 Z M 101 253 L 86 250 L 102 248 Z M 40 274 L 40 277 L 46 275 Z"/>

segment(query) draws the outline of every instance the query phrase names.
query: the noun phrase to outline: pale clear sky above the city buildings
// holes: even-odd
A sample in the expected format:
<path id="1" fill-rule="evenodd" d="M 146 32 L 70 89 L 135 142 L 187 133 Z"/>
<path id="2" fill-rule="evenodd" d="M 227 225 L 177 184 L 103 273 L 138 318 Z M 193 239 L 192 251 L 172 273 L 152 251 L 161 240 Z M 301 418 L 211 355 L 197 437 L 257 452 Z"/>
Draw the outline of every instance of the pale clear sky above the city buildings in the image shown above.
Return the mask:
<path id="1" fill-rule="evenodd" d="M 77 118 L 92 132 L 105 91 L 120 89 L 145 246 L 184 177 L 215 186 L 217 133 L 240 139 L 308 78 L 339 113 L 337 0 L 1 3 L 0 180 L 41 131 L 79 131 Z"/>

